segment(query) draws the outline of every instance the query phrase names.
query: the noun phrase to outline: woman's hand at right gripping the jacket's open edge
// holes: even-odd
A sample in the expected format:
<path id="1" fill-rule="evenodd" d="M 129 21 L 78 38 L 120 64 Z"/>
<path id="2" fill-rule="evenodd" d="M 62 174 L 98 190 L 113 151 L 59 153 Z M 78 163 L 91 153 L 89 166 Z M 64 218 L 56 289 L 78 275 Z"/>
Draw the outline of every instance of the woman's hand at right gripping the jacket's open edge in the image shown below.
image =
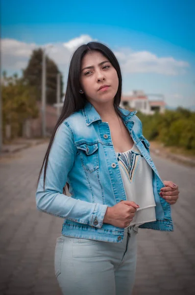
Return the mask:
<path id="1" fill-rule="evenodd" d="M 179 197 L 178 185 L 172 181 L 163 181 L 166 187 L 161 188 L 160 196 L 166 200 L 167 203 L 173 205 L 177 202 Z"/>

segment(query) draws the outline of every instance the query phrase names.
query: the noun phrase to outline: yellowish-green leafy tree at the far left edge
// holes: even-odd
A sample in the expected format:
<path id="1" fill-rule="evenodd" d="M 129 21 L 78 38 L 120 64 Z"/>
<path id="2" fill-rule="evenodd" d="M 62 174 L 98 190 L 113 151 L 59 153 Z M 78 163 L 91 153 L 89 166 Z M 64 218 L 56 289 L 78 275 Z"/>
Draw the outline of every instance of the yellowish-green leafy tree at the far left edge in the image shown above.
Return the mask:
<path id="1" fill-rule="evenodd" d="M 11 125 L 11 135 L 21 135 L 25 119 L 37 118 L 39 111 L 36 105 L 35 90 L 17 74 L 7 77 L 3 72 L 2 79 L 2 125 Z"/>

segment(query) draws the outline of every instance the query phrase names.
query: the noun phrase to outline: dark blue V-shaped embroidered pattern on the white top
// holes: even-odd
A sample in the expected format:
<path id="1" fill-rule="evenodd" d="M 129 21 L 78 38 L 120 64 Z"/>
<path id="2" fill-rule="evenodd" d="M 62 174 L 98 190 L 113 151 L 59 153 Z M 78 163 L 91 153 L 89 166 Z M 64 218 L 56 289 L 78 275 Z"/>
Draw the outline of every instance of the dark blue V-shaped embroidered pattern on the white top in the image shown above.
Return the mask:
<path id="1" fill-rule="evenodd" d="M 139 166 L 140 159 L 143 157 L 137 148 L 132 148 L 126 152 L 118 153 L 118 162 L 129 182 L 133 182 L 136 170 Z"/>

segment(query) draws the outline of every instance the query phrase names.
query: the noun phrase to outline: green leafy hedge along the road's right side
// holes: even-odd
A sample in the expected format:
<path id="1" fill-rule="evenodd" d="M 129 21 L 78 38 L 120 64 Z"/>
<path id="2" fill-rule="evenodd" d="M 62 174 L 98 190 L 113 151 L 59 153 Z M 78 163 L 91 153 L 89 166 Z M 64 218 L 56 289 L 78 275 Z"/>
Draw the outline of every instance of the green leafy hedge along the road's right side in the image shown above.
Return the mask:
<path id="1" fill-rule="evenodd" d="M 178 107 L 164 114 L 137 116 L 143 124 L 143 134 L 148 140 L 158 140 L 165 146 L 195 150 L 195 112 Z"/>

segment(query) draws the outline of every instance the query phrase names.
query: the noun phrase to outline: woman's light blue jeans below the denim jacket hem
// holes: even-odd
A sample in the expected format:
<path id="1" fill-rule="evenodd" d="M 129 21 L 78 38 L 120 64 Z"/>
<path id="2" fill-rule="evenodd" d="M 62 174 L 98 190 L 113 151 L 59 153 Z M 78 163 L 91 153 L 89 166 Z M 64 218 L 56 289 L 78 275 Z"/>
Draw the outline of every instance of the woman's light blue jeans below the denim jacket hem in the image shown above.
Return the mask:
<path id="1" fill-rule="evenodd" d="M 124 229 L 113 243 L 60 236 L 55 275 L 64 295 L 131 295 L 135 280 L 137 232 Z"/>

